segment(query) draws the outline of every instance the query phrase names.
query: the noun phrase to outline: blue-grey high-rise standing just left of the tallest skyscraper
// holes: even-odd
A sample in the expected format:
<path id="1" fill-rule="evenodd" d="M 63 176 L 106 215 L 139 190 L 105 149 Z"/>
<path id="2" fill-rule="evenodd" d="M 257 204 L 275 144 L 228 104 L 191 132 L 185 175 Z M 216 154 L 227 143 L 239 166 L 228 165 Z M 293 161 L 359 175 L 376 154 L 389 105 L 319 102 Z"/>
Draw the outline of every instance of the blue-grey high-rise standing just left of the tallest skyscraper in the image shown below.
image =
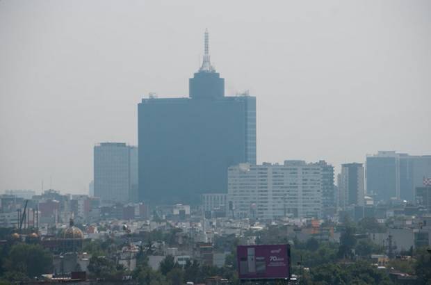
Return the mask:
<path id="1" fill-rule="evenodd" d="M 104 202 L 129 202 L 138 186 L 136 147 L 102 142 L 94 149 L 94 193 Z"/>

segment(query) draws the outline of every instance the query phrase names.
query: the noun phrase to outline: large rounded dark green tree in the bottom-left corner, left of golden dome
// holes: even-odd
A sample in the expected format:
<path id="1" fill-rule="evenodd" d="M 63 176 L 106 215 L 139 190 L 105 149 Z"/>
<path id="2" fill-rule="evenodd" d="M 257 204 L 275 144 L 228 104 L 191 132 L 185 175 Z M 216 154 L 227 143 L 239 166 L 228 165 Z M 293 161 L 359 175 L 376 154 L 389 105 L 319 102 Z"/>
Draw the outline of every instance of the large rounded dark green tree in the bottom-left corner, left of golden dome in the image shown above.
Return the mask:
<path id="1" fill-rule="evenodd" d="M 28 277 L 39 277 L 51 272 L 52 254 L 40 245 L 17 243 L 10 248 L 4 266 L 8 272 L 20 272 Z"/>

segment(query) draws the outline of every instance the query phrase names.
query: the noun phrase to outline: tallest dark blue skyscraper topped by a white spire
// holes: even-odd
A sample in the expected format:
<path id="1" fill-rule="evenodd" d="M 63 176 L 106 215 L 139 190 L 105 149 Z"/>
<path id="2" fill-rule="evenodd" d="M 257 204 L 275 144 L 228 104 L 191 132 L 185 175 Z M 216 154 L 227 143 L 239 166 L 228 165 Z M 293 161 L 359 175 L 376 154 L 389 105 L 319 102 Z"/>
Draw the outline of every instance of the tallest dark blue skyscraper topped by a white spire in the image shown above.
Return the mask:
<path id="1" fill-rule="evenodd" d="M 138 104 L 139 198 L 153 204 L 200 202 L 227 193 L 227 168 L 256 163 L 256 98 L 225 97 L 205 32 L 202 67 L 189 98 L 149 98 Z"/>

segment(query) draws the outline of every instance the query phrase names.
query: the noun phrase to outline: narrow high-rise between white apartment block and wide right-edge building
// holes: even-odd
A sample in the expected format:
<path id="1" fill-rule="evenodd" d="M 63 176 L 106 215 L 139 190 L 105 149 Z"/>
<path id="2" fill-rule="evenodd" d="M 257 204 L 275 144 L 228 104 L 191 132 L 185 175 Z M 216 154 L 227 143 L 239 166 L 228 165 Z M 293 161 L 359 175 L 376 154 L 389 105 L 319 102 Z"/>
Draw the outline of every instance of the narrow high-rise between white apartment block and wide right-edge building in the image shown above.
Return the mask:
<path id="1" fill-rule="evenodd" d="M 364 166 L 362 163 L 341 165 L 339 176 L 339 206 L 364 205 Z"/>

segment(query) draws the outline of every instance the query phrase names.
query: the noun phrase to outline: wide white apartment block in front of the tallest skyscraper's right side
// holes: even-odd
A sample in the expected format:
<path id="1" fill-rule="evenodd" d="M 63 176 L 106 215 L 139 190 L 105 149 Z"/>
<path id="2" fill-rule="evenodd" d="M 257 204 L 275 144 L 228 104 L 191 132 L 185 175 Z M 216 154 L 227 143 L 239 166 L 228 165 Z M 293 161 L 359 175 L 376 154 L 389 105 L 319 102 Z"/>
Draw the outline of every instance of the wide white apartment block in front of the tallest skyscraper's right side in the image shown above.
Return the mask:
<path id="1" fill-rule="evenodd" d="M 236 218 L 320 218 L 322 213 L 318 163 L 241 163 L 228 169 L 227 189 Z"/>

